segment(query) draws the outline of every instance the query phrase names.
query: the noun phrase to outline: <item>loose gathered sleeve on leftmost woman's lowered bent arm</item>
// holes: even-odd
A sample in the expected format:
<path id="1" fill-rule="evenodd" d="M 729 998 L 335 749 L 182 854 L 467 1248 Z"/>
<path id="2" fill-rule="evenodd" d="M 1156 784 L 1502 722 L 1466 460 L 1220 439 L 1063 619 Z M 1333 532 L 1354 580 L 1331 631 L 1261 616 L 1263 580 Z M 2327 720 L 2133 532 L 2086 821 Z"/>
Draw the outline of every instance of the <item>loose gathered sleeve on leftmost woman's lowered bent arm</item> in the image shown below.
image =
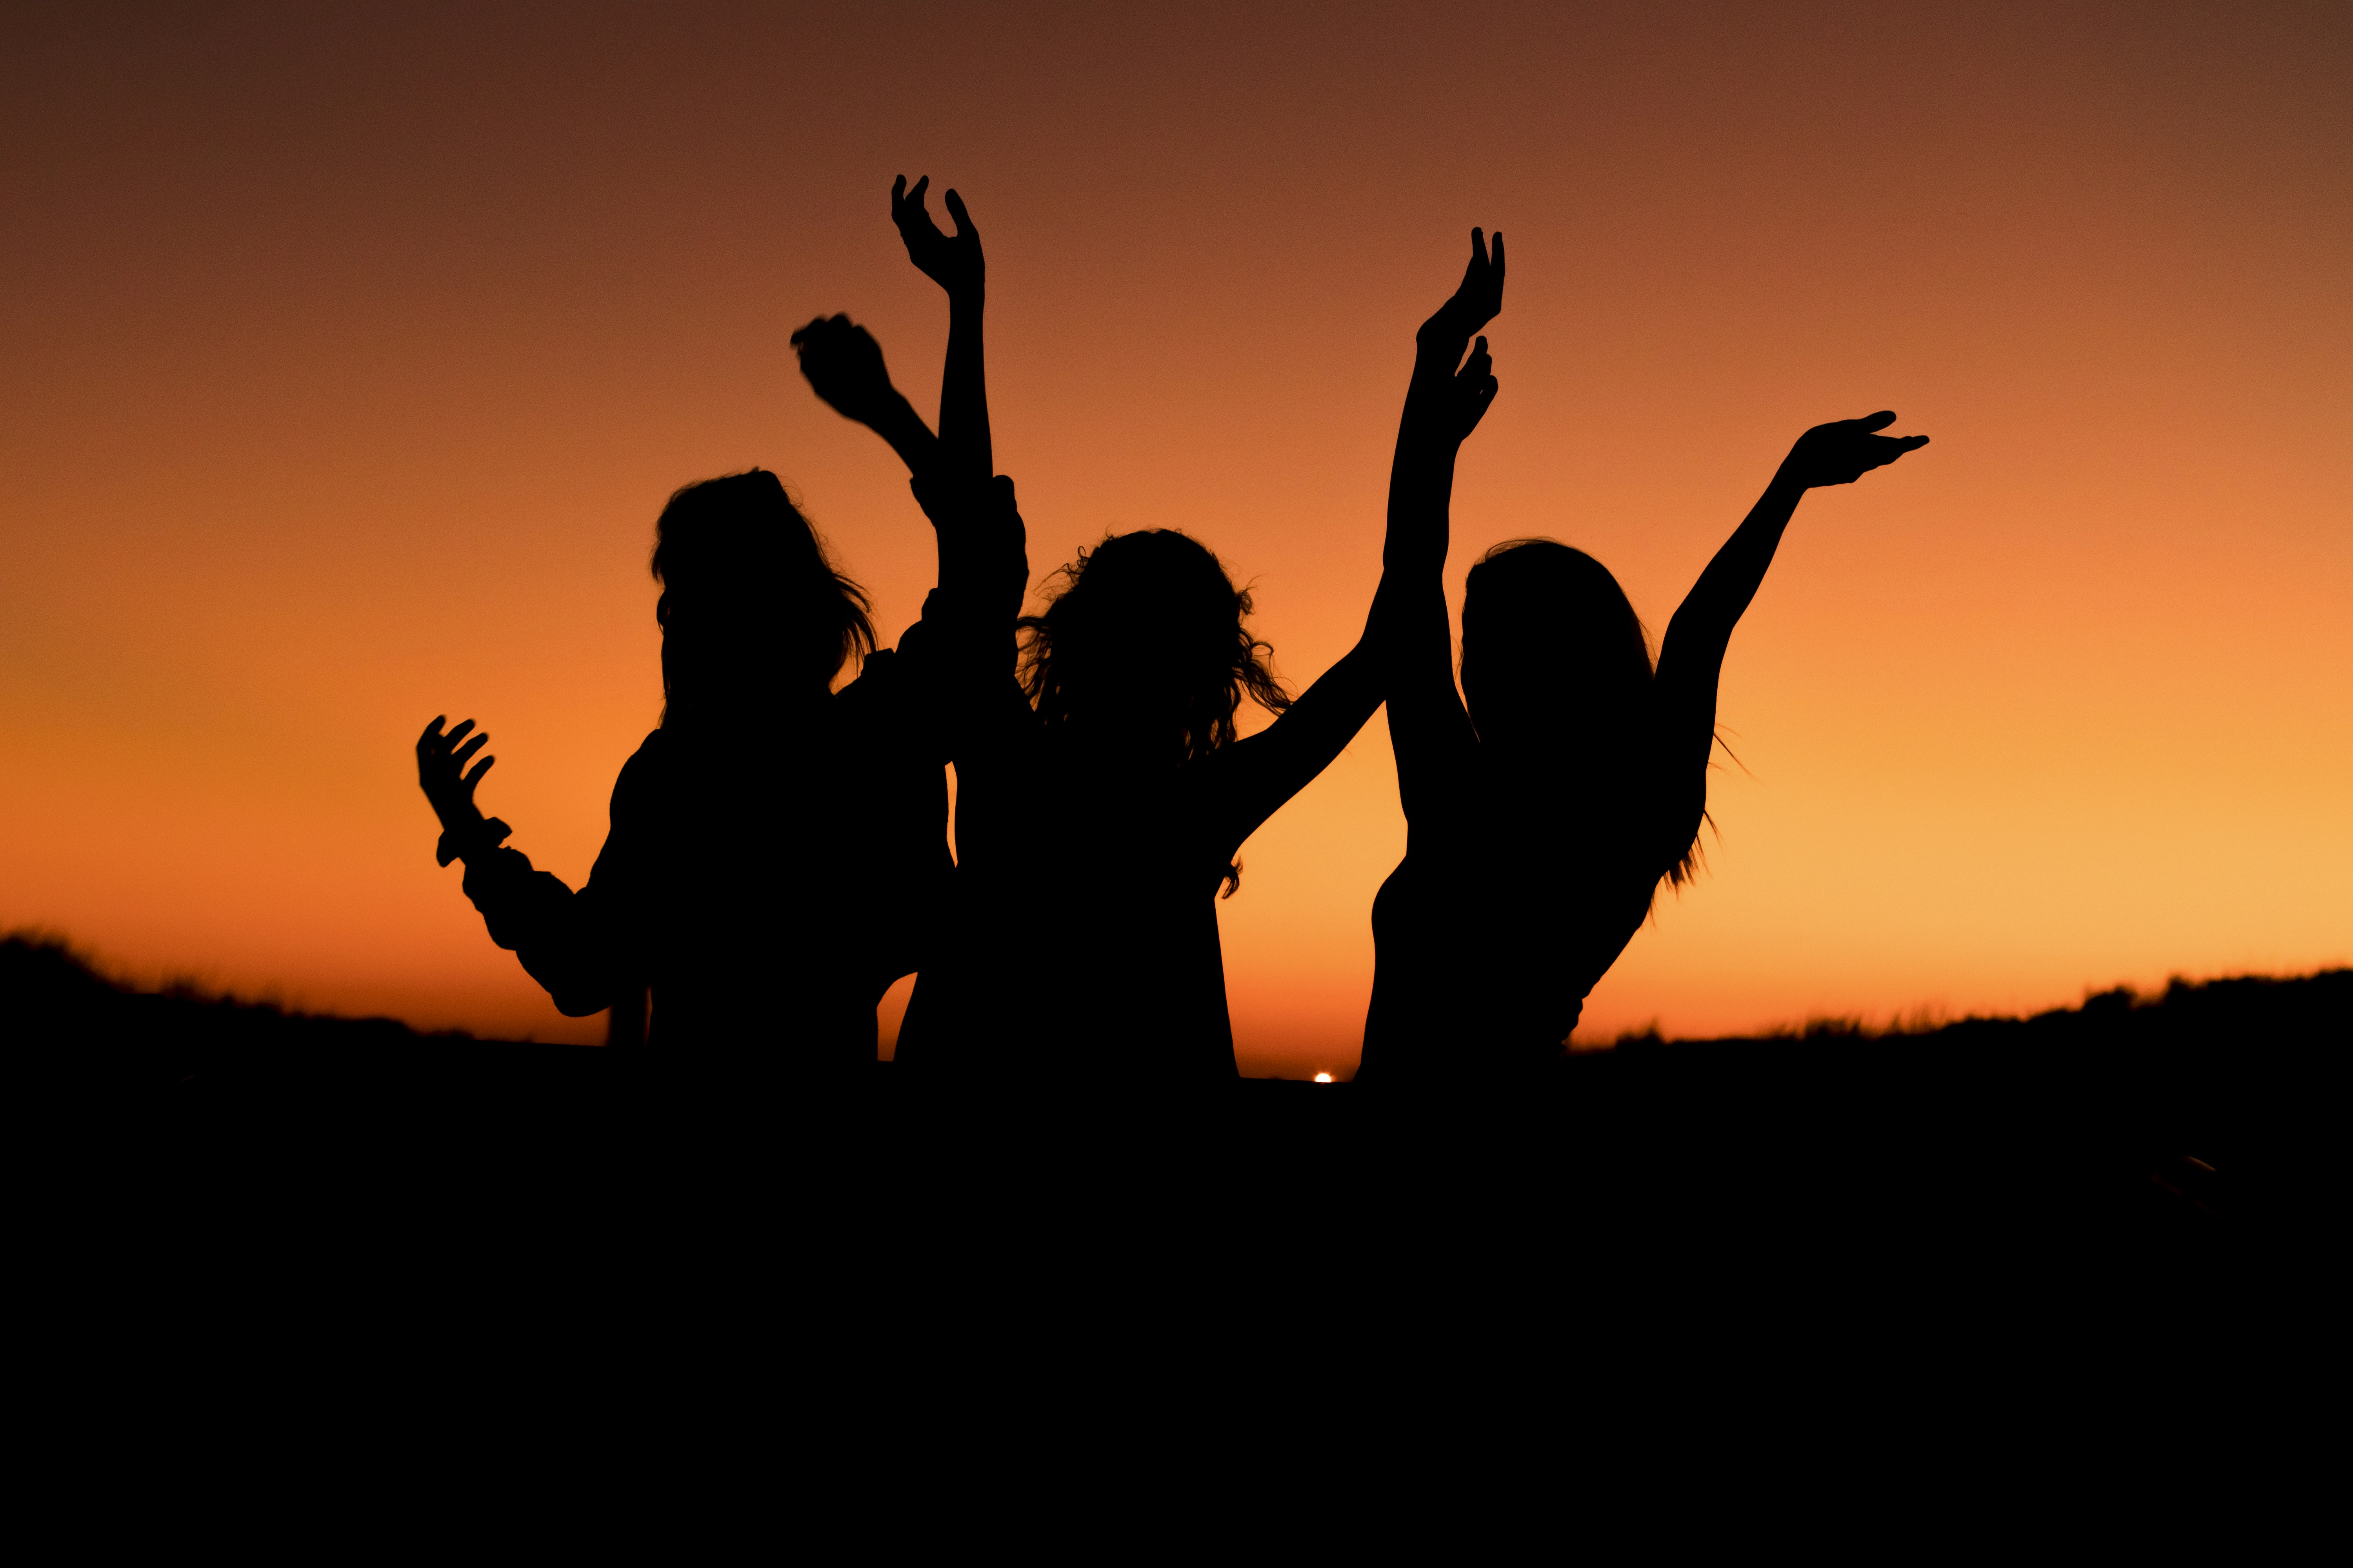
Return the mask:
<path id="1" fill-rule="evenodd" d="M 605 849 L 574 893 L 551 872 L 532 867 L 518 849 L 468 860 L 466 896 L 482 912 L 489 940 L 522 959 L 555 1009 L 586 1018 L 649 976 L 647 830 L 649 795 L 659 778 L 661 731 L 647 736 L 612 788 L 612 827 Z"/>

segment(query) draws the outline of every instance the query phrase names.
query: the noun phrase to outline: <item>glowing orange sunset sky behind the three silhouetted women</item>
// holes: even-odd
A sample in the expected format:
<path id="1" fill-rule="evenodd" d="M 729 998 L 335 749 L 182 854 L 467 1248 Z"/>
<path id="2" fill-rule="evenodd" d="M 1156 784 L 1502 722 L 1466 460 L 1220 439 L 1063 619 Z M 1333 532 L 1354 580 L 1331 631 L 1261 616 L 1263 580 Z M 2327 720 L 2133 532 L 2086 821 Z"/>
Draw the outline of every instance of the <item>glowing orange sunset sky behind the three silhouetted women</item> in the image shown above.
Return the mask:
<path id="1" fill-rule="evenodd" d="M 1471 223 L 1457 599 L 1551 534 L 1661 630 L 1798 430 L 1934 437 L 1800 510 L 1711 872 L 1584 1034 L 2353 959 L 2341 5 L 92 9 L 0 21 L 0 924 L 595 1037 L 433 865 L 409 741 L 480 717 L 579 879 L 659 712 L 654 512 L 753 463 L 913 618 L 929 534 L 786 334 L 849 310 L 932 404 L 927 172 L 1031 559 L 1184 527 L 1297 684 Z M 1377 719 L 1245 846 L 1245 1070 L 1353 1065 L 1402 839 Z"/>

